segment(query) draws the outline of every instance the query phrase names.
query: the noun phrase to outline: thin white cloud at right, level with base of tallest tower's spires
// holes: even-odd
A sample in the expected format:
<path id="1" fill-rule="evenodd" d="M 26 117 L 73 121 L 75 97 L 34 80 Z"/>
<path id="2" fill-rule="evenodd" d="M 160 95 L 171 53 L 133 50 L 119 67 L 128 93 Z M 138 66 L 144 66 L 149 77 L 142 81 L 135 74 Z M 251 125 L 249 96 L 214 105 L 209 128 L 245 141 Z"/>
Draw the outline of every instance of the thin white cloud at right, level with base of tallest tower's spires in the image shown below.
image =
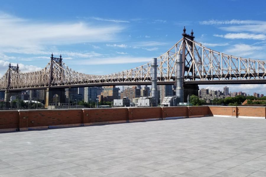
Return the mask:
<path id="1" fill-rule="evenodd" d="M 254 39 L 254 40 L 265 40 L 266 35 L 256 35 L 256 34 L 249 34 L 249 33 L 227 33 L 225 35 L 213 35 L 215 37 L 224 37 L 226 39 Z"/>

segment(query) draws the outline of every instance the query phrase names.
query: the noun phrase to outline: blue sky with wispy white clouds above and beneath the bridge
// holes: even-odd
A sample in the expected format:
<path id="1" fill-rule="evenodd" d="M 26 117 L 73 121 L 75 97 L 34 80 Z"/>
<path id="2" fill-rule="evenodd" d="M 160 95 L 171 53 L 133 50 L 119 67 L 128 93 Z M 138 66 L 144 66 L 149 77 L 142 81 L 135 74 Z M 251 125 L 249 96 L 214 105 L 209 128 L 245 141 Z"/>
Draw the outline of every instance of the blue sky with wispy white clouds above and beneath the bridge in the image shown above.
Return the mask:
<path id="1" fill-rule="evenodd" d="M 0 0 L 0 76 L 9 62 L 40 70 L 52 52 L 82 73 L 123 71 L 166 52 L 184 26 L 213 50 L 266 60 L 265 16 L 266 1 Z M 229 88 L 266 94 L 265 85 Z"/>

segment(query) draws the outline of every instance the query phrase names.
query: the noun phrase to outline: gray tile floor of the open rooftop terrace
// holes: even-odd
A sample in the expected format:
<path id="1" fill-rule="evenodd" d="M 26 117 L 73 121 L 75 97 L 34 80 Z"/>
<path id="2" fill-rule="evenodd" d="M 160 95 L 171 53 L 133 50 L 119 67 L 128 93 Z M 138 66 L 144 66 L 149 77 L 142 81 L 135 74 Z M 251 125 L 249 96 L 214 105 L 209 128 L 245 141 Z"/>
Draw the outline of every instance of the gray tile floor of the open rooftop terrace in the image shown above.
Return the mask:
<path id="1" fill-rule="evenodd" d="M 201 117 L 0 134 L 1 177 L 265 177 L 266 119 Z"/>

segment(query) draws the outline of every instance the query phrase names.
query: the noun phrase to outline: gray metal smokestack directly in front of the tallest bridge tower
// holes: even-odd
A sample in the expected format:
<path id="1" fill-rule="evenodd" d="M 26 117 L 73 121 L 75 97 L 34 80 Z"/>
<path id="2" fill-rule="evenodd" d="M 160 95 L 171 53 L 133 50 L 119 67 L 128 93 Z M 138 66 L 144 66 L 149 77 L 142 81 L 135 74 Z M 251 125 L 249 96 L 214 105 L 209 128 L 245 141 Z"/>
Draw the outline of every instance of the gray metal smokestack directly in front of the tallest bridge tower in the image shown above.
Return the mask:
<path id="1" fill-rule="evenodd" d="M 182 67 L 182 54 L 176 55 L 176 96 L 180 98 L 181 103 L 184 102 L 183 98 L 183 67 Z"/>

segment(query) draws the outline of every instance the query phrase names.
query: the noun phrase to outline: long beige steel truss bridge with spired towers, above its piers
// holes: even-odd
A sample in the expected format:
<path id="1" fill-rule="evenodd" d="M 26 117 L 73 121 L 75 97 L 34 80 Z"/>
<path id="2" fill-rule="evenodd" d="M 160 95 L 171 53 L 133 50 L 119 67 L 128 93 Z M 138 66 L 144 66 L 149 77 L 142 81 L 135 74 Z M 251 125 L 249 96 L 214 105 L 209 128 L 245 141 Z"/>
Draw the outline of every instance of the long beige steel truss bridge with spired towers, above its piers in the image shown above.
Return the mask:
<path id="1" fill-rule="evenodd" d="M 266 83 L 266 61 L 241 58 L 205 47 L 194 40 L 193 31 L 186 34 L 168 51 L 157 58 L 157 83 L 176 82 L 176 59 L 182 54 L 184 84 L 244 84 Z M 22 73 L 19 66 L 11 66 L 0 79 L 0 91 L 19 91 L 46 88 L 69 88 L 112 85 L 151 85 L 151 65 L 108 75 L 84 74 L 69 68 L 63 58 L 51 55 L 49 63 L 40 71 Z"/>

